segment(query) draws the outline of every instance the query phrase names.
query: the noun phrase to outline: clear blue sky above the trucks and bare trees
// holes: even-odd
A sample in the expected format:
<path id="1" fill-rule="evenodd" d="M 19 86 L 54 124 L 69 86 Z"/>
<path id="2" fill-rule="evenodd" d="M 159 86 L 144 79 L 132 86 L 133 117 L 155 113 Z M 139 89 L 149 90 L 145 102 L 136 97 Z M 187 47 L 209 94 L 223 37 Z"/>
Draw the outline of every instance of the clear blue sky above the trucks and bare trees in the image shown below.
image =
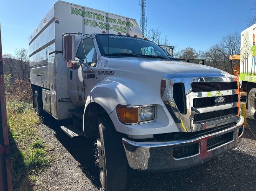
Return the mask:
<path id="1" fill-rule="evenodd" d="M 81 6 L 136 19 L 141 0 L 66 0 Z M 28 37 L 56 0 L 0 0 L 3 54 L 28 49 Z M 147 29 L 161 32 L 175 48 L 207 51 L 227 34 L 247 28 L 256 0 L 146 0 Z"/>

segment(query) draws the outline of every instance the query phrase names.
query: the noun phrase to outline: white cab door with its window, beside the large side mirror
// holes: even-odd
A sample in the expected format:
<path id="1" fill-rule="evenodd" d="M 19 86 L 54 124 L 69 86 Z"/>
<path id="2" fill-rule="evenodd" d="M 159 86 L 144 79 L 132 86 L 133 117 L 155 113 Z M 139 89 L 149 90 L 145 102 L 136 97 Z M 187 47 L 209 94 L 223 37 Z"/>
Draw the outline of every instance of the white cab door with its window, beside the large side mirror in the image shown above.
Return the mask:
<path id="1" fill-rule="evenodd" d="M 97 83 L 96 80 L 96 64 L 97 64 L 97 53 L 95 51 L 94 42 L 92 38 L 84 38 L 83 43 L 81 42 L 77 53 L 76 58 L 83 61 L 93 69 L 90 69 L 83 64 L 80 65 L 78 62 L 77 65 L 74 65 L 70 69 L 69 74 L 69 95 L 72 102 L 76 103 L 75 105 L 84 106 L 87 96 L 89 95 L 91 89 Z"/>

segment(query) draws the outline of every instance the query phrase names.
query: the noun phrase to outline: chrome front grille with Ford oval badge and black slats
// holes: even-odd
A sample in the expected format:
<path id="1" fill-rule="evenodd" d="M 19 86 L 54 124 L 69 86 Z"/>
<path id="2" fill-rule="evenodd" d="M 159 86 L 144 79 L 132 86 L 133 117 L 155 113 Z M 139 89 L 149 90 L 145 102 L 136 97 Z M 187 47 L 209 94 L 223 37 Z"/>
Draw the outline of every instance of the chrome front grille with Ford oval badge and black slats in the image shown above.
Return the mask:
<path id="1" fill-rule="evenodd" d="M 240 103 L 236 78 L 172 78 L 171 75 L 165 75 L 162 81 L 166 83 L 163 86 L 166 88 L 162 100 L 181 132 L 220 127 L 239 120 Z M 177 91 L 175 84 L 182 84 L 179 87 L 184 89 Z M 218 99 L 224 101 L 216 102 Z"/>

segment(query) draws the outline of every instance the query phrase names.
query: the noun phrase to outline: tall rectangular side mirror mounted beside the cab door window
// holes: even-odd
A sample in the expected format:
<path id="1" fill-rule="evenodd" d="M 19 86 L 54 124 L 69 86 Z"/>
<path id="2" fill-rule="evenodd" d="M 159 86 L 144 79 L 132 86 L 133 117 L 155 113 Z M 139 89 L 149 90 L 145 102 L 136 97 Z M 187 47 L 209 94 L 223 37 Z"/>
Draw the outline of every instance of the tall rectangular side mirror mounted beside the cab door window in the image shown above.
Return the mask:
<path id="1" fill-rule="evenodd" d="M 62 57 L 65 61 L 74 61 L 75 60 L 75 53 L 74 53 L 74 43 L 75 36 L 64 34 L 63 35 L 63 47 L 62 47 Z"/>

